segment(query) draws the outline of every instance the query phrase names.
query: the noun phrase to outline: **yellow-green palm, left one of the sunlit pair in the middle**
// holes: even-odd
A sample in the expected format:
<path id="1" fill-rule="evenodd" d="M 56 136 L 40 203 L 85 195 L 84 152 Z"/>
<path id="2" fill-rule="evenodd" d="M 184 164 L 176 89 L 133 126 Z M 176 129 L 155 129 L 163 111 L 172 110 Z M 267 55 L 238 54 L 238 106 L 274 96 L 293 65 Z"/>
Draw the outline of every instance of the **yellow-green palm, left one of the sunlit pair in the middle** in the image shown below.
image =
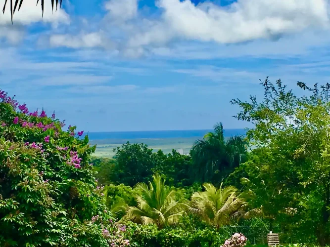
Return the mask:
<path id="1" fill-rule="evenodd" d="M 177 192 L 165 186 L 165 179 L 159 175 L 153 176 L 149 184 L 139 183 L 136 186 L 138 206 L 130 206 L 124 220 L 131 220 L 140 224 L 155 224 L 158 228 L 179 222 L 186 206 L 177 200 Z"/>

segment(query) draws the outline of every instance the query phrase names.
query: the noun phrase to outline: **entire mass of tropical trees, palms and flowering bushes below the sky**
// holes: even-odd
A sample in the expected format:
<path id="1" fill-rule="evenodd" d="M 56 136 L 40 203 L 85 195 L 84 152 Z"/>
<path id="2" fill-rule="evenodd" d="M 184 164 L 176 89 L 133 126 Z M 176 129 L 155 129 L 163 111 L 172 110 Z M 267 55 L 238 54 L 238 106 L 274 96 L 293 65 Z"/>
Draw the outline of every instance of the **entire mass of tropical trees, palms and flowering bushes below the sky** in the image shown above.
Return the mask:
<path id="1" fill-rule="evenodd" d="M 232 101 L 246 136 L 219 123 L 189 155 L 126 143 L 113 159 L 0 91 L 0 246 L 330 245 L 330 84 L 261 84 L 261 102 Z"/>

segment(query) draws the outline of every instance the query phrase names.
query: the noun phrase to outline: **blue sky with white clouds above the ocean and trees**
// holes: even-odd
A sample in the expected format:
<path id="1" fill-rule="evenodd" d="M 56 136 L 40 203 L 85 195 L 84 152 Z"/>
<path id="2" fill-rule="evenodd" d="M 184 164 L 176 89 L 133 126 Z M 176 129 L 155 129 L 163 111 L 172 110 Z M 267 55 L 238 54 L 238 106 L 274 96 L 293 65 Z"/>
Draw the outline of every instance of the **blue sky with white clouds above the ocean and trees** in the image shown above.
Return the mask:
<path id="1" fill-rule="evenodd" d="M 4 0 L 0 0 L 0 5 Z M 249 127 L 259 79 L 330 79 L 329 0 L 24 0 L 0 13 L 0 88 L 85 131 Z M 294 89 L 295 90 L 295 89 Z"/>

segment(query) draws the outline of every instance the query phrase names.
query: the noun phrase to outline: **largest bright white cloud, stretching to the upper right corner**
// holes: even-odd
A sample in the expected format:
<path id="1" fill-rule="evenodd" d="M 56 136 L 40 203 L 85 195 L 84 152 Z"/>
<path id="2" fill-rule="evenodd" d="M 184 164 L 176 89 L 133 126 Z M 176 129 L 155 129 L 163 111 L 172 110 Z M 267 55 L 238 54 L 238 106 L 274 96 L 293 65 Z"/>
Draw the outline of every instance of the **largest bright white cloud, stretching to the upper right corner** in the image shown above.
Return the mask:
<path id="1" fill-rule="evenodd" d="M 134 36 L 131 45 L 173 39 L 236 43 L 329 26 L 327 0 L 237 0 L 226 7 L 158 0 L 158 6 L 164 11 L 161 19 Z"/>

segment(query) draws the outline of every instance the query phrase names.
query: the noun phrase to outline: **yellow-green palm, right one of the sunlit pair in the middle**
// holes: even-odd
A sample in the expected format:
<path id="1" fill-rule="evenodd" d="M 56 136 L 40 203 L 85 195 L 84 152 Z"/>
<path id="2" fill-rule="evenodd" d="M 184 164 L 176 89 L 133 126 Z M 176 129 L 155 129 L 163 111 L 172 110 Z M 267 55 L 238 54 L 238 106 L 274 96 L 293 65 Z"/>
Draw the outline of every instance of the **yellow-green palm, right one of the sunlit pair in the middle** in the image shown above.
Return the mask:
<path id="1" fill-rule="evenodd" d="M 204 183 L 204 192 L 195 192 L 191 196 L 190 211 L 196 213 L 208 225 L 219 228 L 234 218 L 243 216 L 246 203 L 237 196 L 233 186 L 219 189 L 210 183 Z"/>

